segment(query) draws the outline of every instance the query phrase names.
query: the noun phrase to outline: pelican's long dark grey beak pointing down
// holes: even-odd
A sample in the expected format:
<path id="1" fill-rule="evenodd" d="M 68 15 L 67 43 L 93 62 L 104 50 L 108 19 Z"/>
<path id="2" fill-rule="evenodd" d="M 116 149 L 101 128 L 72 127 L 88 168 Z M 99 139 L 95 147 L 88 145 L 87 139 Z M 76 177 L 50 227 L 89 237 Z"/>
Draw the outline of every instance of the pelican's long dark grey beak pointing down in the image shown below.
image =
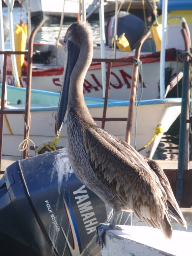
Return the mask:
<path id="1" fill-rule="evenodd" d="M 59 136 L 60 134 L 62 123 L 66 114 L 67 104 L 68 104 L 70 76 L 79 56 L 80 45 L 76 44 L 73 41 L 66 40 L 65 51 L 66 51 L 66 58 L 65 58 L 64 73 L 63 73 L 63 83 L 62 83 L 61 94 L 60 94 L 58 110 L 57 110 L 56 123 L 55 123 L 55 134 L 57 136 Z"/>

